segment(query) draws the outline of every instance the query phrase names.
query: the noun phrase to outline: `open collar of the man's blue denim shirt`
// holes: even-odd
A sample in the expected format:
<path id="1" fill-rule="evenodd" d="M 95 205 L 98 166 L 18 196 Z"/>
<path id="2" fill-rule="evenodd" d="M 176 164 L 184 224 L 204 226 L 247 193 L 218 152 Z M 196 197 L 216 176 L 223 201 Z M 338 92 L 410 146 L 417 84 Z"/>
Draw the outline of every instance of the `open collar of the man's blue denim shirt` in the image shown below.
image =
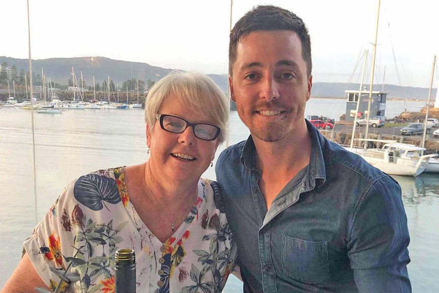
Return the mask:
<path id="1" fill-rule="evenodd" d="M 311 156 L 307 167 L 308 172 L 304 176 L 304 188 L 306 191 L 320 187 L 326 181 L 326 170 L 323 159 L 324 137 L 307 120 L 308 133 L 311 136 Z M 256 147 L 250 135 L 246 140 L 240 156 L 241 164 L 248 169 L 256 169 Z"/>

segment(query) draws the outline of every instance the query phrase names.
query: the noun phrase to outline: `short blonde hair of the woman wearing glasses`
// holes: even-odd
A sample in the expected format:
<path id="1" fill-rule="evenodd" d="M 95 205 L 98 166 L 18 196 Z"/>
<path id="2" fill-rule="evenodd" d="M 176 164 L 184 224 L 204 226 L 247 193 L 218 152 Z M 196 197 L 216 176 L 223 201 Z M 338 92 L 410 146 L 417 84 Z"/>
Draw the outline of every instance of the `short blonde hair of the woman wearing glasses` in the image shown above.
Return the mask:
<path id="1" fill-rule="evenodd" d="M 223 91 L 207 75 L 172 71 L 156 82 L 145 102 L 146 124 L 154 126 L 161 105 L 169 98 L 176 99 L 196 114 L 205 116 L 208 123 L 218 126 L 221 129 L 217 138 L 219 144 L 226 140 L 229 102 Z"/>

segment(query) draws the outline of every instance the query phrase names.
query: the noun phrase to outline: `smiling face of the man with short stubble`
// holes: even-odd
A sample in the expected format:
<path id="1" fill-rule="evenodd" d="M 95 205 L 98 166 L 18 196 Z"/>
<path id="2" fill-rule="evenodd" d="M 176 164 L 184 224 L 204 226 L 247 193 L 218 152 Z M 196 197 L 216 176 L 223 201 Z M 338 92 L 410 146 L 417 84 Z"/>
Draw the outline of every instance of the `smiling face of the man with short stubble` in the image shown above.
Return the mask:
<path id="1" fill-rule="evenodd" d="M 232 99 L 253 136 L 275 142 L 306 127 L 305 104 L 312 76 L 307 77 L 295 32 L 254 31 L 241 38 L 232 73 Z"/>

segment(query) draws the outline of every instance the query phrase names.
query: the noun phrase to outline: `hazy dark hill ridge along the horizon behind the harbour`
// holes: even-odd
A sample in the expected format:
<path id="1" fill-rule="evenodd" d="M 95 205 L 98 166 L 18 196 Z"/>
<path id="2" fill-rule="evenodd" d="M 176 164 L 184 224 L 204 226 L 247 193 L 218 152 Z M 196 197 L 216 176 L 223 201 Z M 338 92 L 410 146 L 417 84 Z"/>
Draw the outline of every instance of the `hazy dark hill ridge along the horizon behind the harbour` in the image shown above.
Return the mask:
<path id="1" fill-rule="evenodd" d="M 29 63 L 27 59 L 15 59 L 0 56 L 0 64 L 3 62 L 8 63 L 8 66 L 15 65 L 17 67 L 17 72 L 21 69 L 24 69 L 26 72 L 29 71 Z M 71 78 L 72 66 L 75 71 L 76 79 L 80 78 L 80 72 L 82 71 L 87 86 L 93 85 L 93 75 L 95 76 L 96 83 L 102 84 L 102 82 L 104 80 L 106 81 L 109 76 L 113 79 L 115 84 L 118 83 L 121 86 L 123 82 L 131 78 L 138 78 L 145 83 L 148 79 L 151 81 L 158 81 L 158 79 L 169 72 L 178 70 L 152 66 L 147 63 L 113 60 L 105 57 L 51 58 L 33 60 L 32 62 L 32 69 L 35 74 L 41 75 L 41 68 L 43 68 L 44 74 L 49 76 L 52 82 L 62 85 L 67 85 L 68 80 Z M 225 92 L 227 91 L 227 74 L 208 75 L 218 84 L 219 87 Z M 358 90 L 359 87 L 359 84 L 316 82 L 313 84 L 312 96 L 341 98 L 345 97 L 345 90 Z M 381 90 L 381 88 L 382 85 L 374 86 L 374 90 Z M 384 90 L 389 92 L 389 98 L 421 100 L 426 100 L 428 98 L 427 88 L 385 85 Z M 435 94 L 436 90 L 433 91 L 433 99 Z"/>

